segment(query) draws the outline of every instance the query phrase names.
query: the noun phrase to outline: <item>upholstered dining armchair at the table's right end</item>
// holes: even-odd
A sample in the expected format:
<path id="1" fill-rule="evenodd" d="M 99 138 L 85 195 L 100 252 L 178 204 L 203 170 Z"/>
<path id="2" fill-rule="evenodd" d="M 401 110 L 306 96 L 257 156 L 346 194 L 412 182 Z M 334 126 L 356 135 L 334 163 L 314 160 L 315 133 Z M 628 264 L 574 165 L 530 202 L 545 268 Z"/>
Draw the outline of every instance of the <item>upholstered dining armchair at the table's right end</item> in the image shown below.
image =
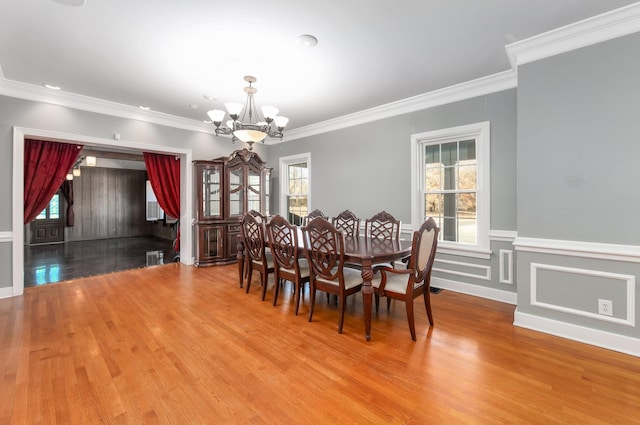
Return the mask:
<path id="1" fill-rule="evenodd" d="M 407 321 L 411 338 L 416 340 L 416 328 L 413 317 L 413 300 L 420 295 L 424 297 L 424 306 L 429 317 L 429 324 L 433 326 L 433 314 L 431 312 L 431 269 L 438 245 L 438 233 L 440 228 L 433 217 L 429 217 L 420 229 L 413 232 L 411 256 L 406 269 L 394 269 L 392 267 L 379 267 L 371 284 L 374 288 L 376 312 L 379 309 L 380 297 L 387 297 L 387 310 L 391 305 L 391 299 L 404 301 L 407 309 Z"/>

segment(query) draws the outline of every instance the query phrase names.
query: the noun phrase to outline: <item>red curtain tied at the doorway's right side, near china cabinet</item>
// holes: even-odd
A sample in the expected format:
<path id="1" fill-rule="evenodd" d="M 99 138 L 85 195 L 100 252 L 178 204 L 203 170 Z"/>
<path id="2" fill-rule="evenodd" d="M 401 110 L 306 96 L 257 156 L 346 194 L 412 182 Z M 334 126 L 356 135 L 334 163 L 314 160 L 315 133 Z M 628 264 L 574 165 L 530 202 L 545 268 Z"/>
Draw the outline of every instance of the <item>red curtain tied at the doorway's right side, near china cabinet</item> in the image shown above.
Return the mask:
<path id="1" fill-rule="evenodd" d="M 180 159 L 173 155 L 143 152 L 151 188 L 160 208 L 173 218 L 180 218 Z M 180 229 L 174 246 L 180 250 Z"/>

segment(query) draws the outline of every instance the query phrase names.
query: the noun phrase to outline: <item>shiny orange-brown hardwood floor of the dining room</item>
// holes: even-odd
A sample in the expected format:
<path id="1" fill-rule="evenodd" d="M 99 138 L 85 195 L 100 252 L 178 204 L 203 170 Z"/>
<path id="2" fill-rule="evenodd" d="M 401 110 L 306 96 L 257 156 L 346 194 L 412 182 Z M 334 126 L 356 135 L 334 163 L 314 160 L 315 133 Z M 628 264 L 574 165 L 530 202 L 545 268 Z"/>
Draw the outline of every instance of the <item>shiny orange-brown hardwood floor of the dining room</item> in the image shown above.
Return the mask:
<path id="1" fill-rule="evenodd" d="M 514 307 L 442 291 L 363 331 L 237 266 L 179 263 L 0 300 L 0 424 L 640 424 L 640 358 L 514 327 Z M 385 304 L 385 303 L 381 303 Z"/>

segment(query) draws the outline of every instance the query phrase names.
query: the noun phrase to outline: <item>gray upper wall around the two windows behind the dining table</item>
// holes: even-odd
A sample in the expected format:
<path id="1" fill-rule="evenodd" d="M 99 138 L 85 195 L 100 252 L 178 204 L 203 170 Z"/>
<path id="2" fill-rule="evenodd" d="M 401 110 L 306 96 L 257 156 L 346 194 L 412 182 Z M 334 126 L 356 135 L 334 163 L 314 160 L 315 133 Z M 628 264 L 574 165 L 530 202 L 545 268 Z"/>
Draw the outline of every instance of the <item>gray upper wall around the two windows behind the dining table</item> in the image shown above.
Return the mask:
<path id="1" fill-rule="evenodd" d="M 279 143 L 270 162 L 279 180 L 280 157 L 311 153 L 312 209 L 333 216 L 348 208 L 363 218 L 386 210 L 409 224 L 411 135 L 482 121 L 491 122 L 491 228 L 516 230 L 515 89 Z"/>

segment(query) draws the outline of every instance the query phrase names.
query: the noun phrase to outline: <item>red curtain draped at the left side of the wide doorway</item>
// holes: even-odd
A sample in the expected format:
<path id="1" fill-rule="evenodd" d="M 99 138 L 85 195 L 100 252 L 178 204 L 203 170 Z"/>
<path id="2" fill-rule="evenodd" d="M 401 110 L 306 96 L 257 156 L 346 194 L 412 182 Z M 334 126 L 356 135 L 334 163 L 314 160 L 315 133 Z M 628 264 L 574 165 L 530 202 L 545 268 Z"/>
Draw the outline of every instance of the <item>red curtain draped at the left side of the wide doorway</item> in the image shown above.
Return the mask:
<path id="1" fill-rule="evenodd" d="M 24 140 L 24 224 L 46 208 L 78 155 L 82 145 Z"/>

